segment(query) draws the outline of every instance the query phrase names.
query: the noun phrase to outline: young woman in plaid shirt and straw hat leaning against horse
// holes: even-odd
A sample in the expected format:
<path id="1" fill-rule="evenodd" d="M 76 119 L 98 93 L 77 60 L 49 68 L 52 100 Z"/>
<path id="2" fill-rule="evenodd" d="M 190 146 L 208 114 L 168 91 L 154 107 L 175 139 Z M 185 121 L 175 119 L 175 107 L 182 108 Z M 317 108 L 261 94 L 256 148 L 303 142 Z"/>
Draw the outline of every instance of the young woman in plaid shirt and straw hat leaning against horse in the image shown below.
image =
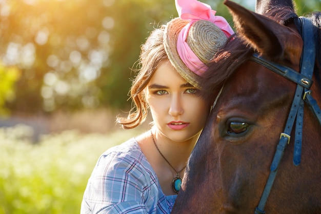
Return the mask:
<path id="1" fill-rule="evenodd" d="M 142 46 L 132 88 L 135 109 L 117 122 L 151 130 L 108 149 L 88 181 L 81 213 L 170 213 L 187 159 L 210 112 L 200 96 L 206 64 L 233 31 L 210 6 L 176 0 L 180 18 L 155 29 Z M 193 8 L 190 8 L 193 5 Z"/>

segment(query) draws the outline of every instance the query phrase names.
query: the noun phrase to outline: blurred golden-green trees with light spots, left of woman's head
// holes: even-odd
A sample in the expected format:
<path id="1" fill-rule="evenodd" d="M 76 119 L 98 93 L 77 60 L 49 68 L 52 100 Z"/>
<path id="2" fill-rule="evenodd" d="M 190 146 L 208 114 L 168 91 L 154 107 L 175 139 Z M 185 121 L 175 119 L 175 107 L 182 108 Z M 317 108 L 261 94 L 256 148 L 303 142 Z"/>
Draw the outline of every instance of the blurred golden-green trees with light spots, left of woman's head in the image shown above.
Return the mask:
<path id="1" fill-rule="evenodd" d="M 129 106 L 141 44 L 176 15 L 172 0 L 10 0 L 0 7 L 0 57 L 22 70 L 7 106 L 30 113 Z"/>

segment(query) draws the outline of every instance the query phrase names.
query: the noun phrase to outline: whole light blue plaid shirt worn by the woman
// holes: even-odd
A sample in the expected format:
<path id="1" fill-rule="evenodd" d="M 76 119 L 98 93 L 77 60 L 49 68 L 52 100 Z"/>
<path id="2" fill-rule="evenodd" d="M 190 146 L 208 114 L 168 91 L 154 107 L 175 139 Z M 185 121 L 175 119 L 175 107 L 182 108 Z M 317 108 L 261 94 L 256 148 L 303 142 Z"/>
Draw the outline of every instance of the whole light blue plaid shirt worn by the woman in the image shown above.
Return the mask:
<path id="1" fill-rule="evenodd" d="M 170 213 L 176 195 L 165 196 L 135 139 L 99 157 L 88 180 L 81 214 Z"/>

